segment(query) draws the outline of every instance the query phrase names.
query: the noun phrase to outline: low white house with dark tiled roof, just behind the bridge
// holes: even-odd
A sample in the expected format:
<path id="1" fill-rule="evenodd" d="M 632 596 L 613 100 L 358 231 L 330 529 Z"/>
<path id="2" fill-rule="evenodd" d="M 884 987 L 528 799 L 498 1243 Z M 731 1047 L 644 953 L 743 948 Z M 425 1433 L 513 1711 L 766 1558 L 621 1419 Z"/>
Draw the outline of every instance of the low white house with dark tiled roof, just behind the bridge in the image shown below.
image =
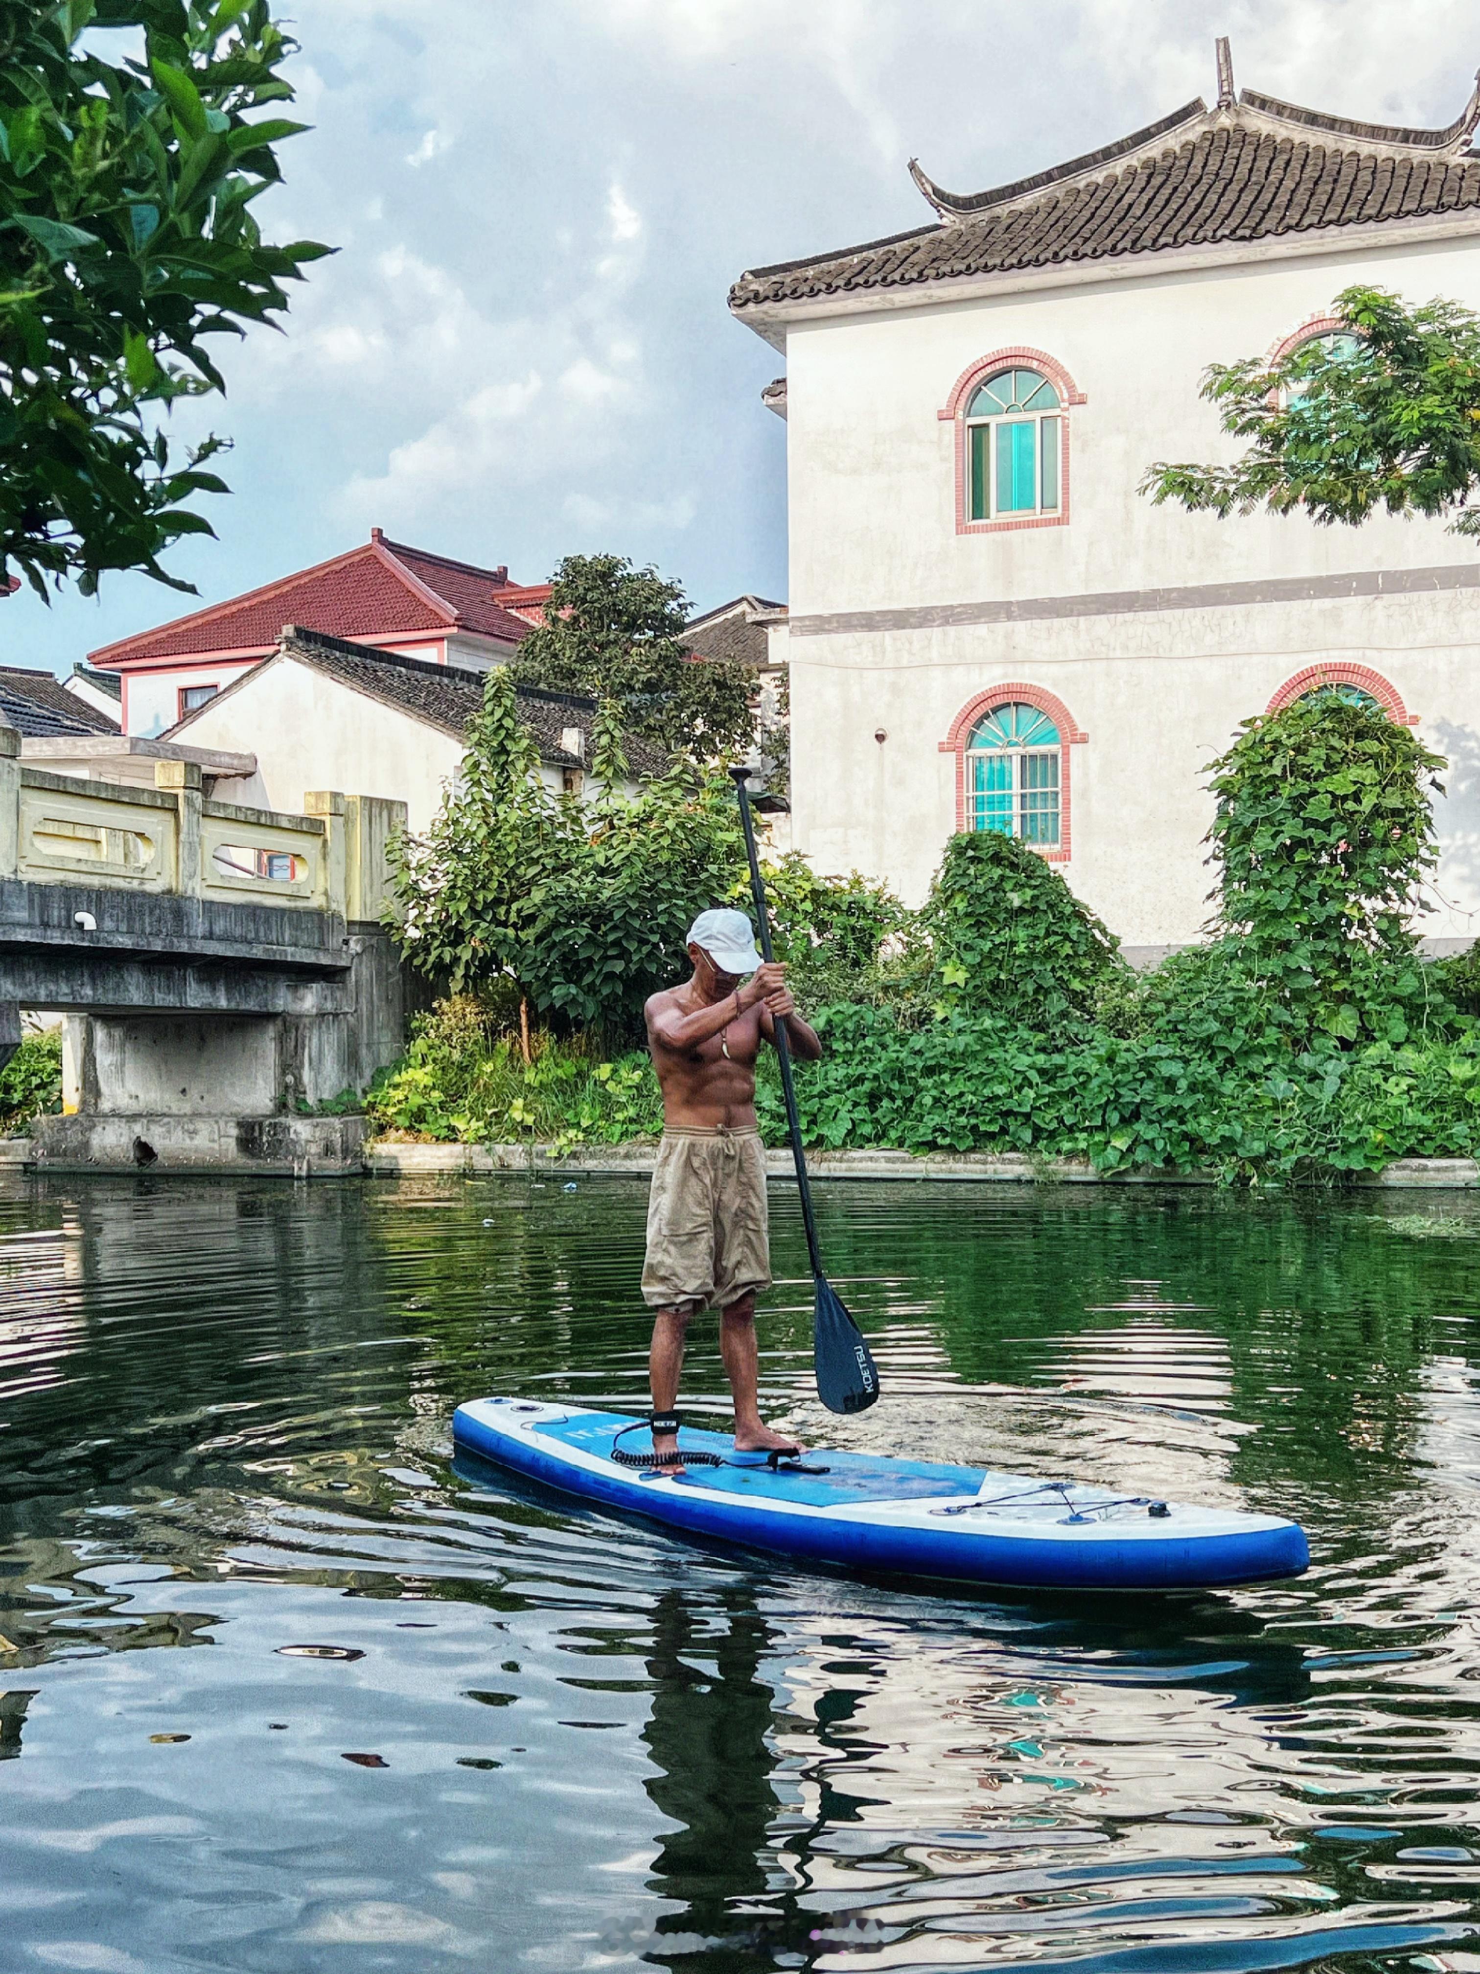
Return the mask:
<path id="1" fill-rule="evenodd" d="M 345 788 L 405 801 L 410 829 L 422 831 L 462 764 L 468 721 L 481 703 L 480 671 L 294 630 L 156 746 L 219 764 L 241 760 L 245 776 L 217 768 L 217 801 L 300 813 L 306 790 Z M 517 703 L 539 740 L 545 786 L 592 797 L 594 703 L 529 687 L 519 687 Z M 665 766 L 633 736 L 628 758 L 637 774 Z"/>

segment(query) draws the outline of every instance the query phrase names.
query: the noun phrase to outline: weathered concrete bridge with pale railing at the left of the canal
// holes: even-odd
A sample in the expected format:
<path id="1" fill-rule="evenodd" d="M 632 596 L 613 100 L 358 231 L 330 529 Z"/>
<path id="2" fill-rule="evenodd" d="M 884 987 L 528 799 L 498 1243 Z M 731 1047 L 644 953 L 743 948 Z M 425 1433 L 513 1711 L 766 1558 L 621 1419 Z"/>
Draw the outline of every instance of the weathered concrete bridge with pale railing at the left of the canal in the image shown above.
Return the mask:
<path id="1" fill-rule="evenodd" d="M 322 1105 L 403 1048 L 381 908 L 407 809 L 304 807 L 211 801 L 187 760 L 152 790 L 47 774 L 0 726 L 0 1062 L 22 1009 L 65 1017 L 37 1167 L 359 1169 L 361 1119 Z"/>

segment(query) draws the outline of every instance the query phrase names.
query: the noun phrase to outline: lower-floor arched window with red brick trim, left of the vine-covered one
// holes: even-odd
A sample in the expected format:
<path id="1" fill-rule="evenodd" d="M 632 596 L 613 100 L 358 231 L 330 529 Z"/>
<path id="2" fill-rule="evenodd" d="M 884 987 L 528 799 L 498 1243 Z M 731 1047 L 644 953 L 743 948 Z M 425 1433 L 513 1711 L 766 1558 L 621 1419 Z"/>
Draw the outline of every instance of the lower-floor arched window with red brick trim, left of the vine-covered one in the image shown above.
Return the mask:
<path id="1" fill-rule="evenodd" d="M 955 827 L 1000 829 L 1050 863 L 1072 853 L 1070 750 L 1089 734 L 1042 685 L 1014 681 L 975 693 L 941 740 L 955 754 Z"/>

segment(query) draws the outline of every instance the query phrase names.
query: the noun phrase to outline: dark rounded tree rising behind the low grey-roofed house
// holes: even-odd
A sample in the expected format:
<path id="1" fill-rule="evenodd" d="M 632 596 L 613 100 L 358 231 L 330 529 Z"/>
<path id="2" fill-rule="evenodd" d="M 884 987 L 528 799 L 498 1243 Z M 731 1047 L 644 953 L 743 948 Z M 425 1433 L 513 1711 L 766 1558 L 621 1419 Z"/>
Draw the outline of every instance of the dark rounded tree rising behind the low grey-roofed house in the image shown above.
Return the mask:
<path id="1" fill-rule="evenodd" d="M 697 762 L 744 754 L 754 738 L 754 671 L 687 657 L 683 588 L 624 555 L 568 555 L 545 622 L 519 645 L 515 677 L 610 699 L 629 732 Z"/>

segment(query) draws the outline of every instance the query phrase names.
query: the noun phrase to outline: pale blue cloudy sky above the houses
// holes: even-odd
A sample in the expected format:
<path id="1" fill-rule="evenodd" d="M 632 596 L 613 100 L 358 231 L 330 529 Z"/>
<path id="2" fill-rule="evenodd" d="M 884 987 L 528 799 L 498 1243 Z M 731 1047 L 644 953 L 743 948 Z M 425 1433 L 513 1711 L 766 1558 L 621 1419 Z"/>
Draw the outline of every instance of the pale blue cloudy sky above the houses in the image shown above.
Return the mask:
<path id="1" fill-rule="evenodd" d="M 300 53 L 272 239 L 337 253 L 284 334 L 219 343 L 231 497 L 174 574 L 22 592 L 0 661 L 114 638 L 393 539 L 545 580 L 616 551 L 695 610 L 785 598 L 783 369 L 734 322 L 748 266 L 931 219 L 1239 87 L 1444 124 L 1480 0 L 282 0 Z M 197 418 L 201 407 L 187 407 Z M 189 430 L 182 424 L 182 430 Z"/>

